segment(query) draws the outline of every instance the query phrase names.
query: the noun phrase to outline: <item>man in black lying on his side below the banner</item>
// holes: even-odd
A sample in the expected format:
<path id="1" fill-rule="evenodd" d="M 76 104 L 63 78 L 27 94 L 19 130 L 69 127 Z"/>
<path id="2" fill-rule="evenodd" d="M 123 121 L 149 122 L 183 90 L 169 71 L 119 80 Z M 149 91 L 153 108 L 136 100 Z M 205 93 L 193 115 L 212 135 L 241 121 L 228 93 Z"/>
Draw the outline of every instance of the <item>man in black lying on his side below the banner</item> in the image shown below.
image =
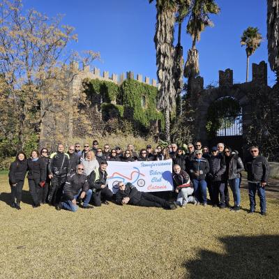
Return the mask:
<path id="1" fill-rule="evenodd" d="M 137 190 L 132 183 L 123 182 L 118 183 L 119 190 L 116 193 L 116 204 L 132 204 L 137 206 L 146 207 L 163 207 L 163 209 L 176 209 L 176 203 L 169 204 L 165 199 L 160 199 L 151 195 L 150 193 L 144 193 Z"/>

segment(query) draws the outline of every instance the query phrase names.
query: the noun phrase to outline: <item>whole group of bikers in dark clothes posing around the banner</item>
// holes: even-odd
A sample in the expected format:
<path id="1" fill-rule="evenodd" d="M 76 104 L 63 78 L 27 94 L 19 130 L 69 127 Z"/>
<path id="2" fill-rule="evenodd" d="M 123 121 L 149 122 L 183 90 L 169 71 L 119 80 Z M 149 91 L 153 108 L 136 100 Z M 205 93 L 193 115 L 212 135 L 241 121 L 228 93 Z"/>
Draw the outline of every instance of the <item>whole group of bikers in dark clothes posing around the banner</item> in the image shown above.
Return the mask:
<path id="1" fill-rule="evenodd" d="M 176 202 L 142 193 L 130 183 L 119 182 L 119 190 L 114 195 L 107 186 L 107 165 L 110 161 L 133 162 L 147 160 L 173 161 L 173 185 Z M 250 211 L 255 212 L 255 195 L 259 195 L 261 214 L 266 215 L 265 186 L 269 176 L 269 163 L 259 155 L 257 146 L 250 147 L 250 156 L 245 163 L 237 151 L 232 151 L 223 143 L 211 149 L 202 146 L 202 142 L 188 144 L 185 150 L 177 144 L 169 144 L 163 148 L 158 145 L 152 148 L 150 144 L 137 154 L 133 144 L 128 144 L 123 151 L 120 146 L 103 148 L 94 140 L 92 146 L 85 143 L 82 149 L 80 143 L 70 145 L 65 153 L 63 144 L 57 151 L 49 153 L 45 148 L 40 153 L 31 152 L 30 158 L 23 152 L 17 153 L 16 160 L 10 165 L 9 183 L 11 188 L 11 203 L 15 209 L 20 209 L 22 188 L 27 174 L 29 191 L 33 207 L 49 203 L 57 210 L 67 209 L 77 211 L 79 204 L 84 209 L 93 206 L 109 204 L 133 204 L 138 206 L 156 206 L 165 209 L 185 207 L 188 202 L 193 204 L 208 204 L 213 207 L 239 211 L 241 206 L 240 182 L 241 172 L 248 172 L 248 188 Z M 232 190 L 234 205 L 229 204 L 229 189 Z M 93 205 L 93 206 L 92 206 Z"/>

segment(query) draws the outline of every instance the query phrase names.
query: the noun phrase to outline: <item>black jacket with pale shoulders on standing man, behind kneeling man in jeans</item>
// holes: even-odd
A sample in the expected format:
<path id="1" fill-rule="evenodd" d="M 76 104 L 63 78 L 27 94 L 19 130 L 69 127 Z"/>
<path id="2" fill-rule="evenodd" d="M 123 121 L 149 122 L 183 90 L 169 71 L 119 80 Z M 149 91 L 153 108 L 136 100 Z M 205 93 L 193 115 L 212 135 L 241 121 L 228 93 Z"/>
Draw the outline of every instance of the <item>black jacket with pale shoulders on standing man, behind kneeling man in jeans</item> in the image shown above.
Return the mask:
<path id="1" fill-rule="evenodd" d="M 66 176 L 70 172 L 70 160 L 68 154 L 63 152 L 54 152 L 50 155 L 48 164 L 49 174 Z"/>

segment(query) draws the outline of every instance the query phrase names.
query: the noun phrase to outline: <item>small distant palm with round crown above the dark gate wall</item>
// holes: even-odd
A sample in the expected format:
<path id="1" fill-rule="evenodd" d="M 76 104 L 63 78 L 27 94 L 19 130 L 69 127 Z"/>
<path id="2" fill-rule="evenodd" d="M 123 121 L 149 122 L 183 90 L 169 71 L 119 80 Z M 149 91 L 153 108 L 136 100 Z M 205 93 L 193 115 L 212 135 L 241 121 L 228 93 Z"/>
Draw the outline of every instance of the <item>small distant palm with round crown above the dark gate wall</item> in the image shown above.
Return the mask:
<path id="1" fill-rule="evenodd" d="M 246 45 L 246 82 L 248 82 L 248 70 L 249 70 L 249 57 L 257 50 L 261 45 L 262 35 L 259 33 L 257 27 L 248 27 L 248 29 L 243 31 L 241 36 L 241 46 Z"/>

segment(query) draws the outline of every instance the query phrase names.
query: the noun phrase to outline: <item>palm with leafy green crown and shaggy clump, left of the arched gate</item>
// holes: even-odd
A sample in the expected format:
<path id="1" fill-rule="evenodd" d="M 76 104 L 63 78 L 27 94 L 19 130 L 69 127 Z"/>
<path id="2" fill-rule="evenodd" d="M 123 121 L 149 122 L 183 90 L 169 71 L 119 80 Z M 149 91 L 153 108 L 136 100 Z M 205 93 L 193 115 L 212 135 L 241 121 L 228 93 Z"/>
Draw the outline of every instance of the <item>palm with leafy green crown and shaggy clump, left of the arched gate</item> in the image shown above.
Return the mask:
<path id="1" fill-rule="evenodd" d="M 206 27 L 213 27 L 209 14 L 218 14 L 220 8 L 214 0 L 191 0 L 189 7 L 189 20 L 187 33 L 192 36 L 192 48 L 188 50 L 187 61 L 184 68 L 184 76 L 188 77 L 188 92 L 191 91 L 191 81 L 199 74 L 199 52 L 196 43 Z"/>

